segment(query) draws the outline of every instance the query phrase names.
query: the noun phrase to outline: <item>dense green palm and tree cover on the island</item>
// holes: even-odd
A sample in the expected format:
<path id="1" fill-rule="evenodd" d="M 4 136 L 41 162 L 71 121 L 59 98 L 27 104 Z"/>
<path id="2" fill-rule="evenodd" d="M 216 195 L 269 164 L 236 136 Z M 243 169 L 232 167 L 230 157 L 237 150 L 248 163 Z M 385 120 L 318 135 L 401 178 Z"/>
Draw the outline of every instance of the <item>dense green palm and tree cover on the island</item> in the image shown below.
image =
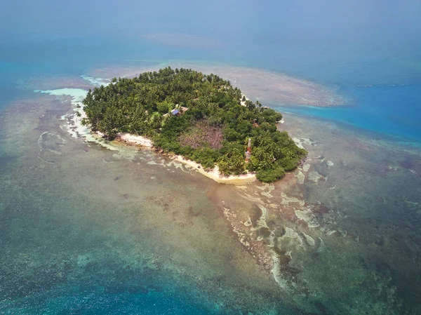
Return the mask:
<path id="1" fill-rule="evenodd" d="M 167 67 L 113 79 L 89 91 L 83 105 L 83 123 L 108 138 L 121 132 L 145 135 L 164 152 L 186 156 L 203 168 L 216 163 L 225 175 L 250 170 L 262 182 L 274 182 L 307 154 L 276 129 L 280 113 L 246 100 L 239 88 L 215 74 Z M 171 114 L 173 109 L 180 113 Z M 246 163 L 249 138 L 252 151 Z"/>

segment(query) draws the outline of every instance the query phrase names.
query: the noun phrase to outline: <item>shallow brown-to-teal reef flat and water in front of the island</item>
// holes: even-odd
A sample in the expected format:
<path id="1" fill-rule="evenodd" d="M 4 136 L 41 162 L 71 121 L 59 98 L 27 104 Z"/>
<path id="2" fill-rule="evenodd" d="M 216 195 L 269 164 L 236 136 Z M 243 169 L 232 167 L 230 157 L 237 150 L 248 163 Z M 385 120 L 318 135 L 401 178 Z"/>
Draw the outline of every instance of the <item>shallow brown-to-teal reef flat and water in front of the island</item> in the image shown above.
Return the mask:
<path id="1" fill-rule="evenodd" d="M 421 312 L 417 147 L 287 114 L 306 163 L 235 187 L 72 138 L 71 111 L 34 93 L 0 114 L 2 313 Z"/>

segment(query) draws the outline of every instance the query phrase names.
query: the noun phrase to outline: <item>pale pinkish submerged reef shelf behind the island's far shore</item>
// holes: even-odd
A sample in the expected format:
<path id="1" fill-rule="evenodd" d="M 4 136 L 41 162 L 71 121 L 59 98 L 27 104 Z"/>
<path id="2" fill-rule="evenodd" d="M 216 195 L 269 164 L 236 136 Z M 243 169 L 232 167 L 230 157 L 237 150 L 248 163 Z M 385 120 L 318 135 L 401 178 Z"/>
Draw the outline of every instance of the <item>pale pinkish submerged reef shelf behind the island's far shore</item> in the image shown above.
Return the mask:
<path id="1" fill-rule="evenodd" d="M 223 79 L 229 80 L 233 85 L 254 100 L 262 100 L 267 104 L 290 106 L 312 106 L 320 108 L 346 107 L 352 100 L 342 95 L 335 86 L 326 86 L 316 81 L 303 79 L 298 76 L 271 72 L 253 67 L 225 65 L 223 63 L 182 62 L 168 60 L 156 62 L 149 66 L 119 66 L 110 65 L 105 68 L 93 69 L 88 72 L 93 78 L 113 78 L 115 76 L 132 78 L 142 72 L 153 72 L 162 67 L 196 69 L 204 74 L 218 73 Z"/>

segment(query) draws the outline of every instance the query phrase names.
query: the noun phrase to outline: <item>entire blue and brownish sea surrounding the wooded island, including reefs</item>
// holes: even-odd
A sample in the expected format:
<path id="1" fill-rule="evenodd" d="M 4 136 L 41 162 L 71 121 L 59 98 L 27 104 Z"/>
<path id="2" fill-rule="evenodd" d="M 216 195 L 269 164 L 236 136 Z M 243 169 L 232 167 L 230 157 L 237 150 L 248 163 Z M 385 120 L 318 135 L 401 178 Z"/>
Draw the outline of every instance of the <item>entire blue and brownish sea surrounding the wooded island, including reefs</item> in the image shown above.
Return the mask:
<path id="1" fill-rule="evenodd" d="M 2 4 L 0 314 L 421 314 L 420 16 L 418 1 Z M 304 166 L 220 185 L 74 133 L 89 88 L 167 65 L 220 69 L 282 112 Z"/>

